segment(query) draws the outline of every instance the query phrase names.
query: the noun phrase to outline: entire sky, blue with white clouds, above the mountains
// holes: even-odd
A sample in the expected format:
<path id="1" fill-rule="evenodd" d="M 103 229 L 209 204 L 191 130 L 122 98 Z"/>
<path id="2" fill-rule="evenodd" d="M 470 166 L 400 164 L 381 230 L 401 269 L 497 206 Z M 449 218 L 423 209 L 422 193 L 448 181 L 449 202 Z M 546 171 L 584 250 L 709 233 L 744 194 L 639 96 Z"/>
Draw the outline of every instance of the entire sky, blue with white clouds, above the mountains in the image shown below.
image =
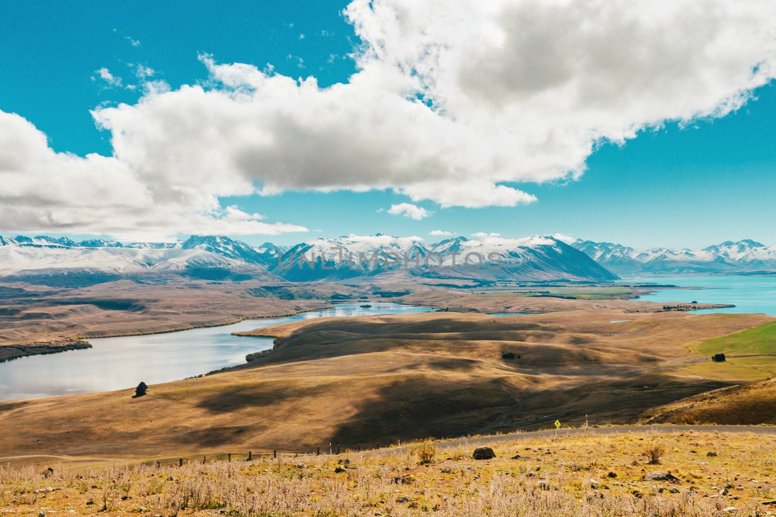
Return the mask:
<path id="1" fill-rule="evenodd" d="M 5 2 L 0 234 L 776 244 L 772 3 L 437 3 Z"/>

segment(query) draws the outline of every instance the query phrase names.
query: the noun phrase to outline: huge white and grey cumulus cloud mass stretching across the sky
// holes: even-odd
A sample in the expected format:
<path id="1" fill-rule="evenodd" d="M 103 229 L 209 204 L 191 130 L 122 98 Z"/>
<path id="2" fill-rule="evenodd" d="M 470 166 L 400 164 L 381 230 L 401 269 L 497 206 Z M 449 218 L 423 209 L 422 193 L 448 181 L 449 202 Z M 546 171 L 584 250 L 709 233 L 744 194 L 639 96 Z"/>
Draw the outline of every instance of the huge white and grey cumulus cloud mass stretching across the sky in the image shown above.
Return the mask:
<path id="1" fill-rule="evenodd" d="M 18 168 L 0 167 L 2 210 L 93 228 L 93 195 L 123 207 L 121 188 L 143 202 L 116 209 L 125 229 L 289 189 L 514 206 L 535 201 L 525 184 L 580 178 L 597 143 L 724 116 L 776 75 L 771 0 L 354 0 L 345 16 L 363 43 L 347 83 L 203 56 L 206 81 L 148 81 L 137 103 L 92 112 L 112 157 L 54 153 L 34 135 L 3 146 Z M 36 190 L 50 191 L 44 209 L 25 201 Z"/>

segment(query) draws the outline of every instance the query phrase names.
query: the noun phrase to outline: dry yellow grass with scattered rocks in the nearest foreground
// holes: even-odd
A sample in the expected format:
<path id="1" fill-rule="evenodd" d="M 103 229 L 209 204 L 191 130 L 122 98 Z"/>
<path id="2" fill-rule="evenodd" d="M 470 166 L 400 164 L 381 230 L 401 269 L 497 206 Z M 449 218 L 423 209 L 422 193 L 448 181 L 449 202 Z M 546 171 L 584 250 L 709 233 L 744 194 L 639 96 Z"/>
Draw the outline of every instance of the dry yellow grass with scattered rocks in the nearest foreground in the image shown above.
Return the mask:
<path id="1" fill-rule="evenodd" d="M 776 437 L 688 431 L 496 441 L 497 458 L 480 461 L 471 459 L 473 446 L 437 443 L 425 464 L 417 445 L 251 464 L 5 469 L 0 512 L 700 517 L 776 508 L 764 504 L 776 496 Z M 660 465 L 648 464 L 650 449 L 664 451 Z M 654 470 L 678 479 L 643 481 Z"/>

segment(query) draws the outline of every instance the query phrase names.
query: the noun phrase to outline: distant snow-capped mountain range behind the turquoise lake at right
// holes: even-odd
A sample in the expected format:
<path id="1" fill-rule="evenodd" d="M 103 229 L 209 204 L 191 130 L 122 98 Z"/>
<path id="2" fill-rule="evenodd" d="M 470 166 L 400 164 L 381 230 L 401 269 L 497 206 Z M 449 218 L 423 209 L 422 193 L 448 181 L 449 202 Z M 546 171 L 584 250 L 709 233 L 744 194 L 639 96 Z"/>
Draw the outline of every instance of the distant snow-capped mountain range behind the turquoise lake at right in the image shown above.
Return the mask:
<path id="1" fill-rule="evenodd" d="M 776 271 L 776 246 L 754 240 L 707 246 L 702 250 L 636 250 L 615 243 L 577 239 L 571 246 L 616 274 L 753 273 Z"/>

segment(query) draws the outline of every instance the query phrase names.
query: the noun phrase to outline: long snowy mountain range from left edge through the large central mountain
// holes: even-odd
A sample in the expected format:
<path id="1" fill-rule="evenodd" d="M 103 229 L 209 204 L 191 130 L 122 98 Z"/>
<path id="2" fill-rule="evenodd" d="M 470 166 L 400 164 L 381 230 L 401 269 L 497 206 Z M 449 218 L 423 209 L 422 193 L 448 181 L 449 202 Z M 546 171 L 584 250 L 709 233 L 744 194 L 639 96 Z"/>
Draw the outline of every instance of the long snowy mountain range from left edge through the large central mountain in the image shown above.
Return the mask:
<path id="1" fill-rule="evenodd" d="M 75 243 L 65 237 L 0 236 L 0 276 L 51 271 L 118 275 L 195 271 L 198 277 L 213 277 L 216 270 L 263 273 L 265 278 L 289 281 L 341 280 L 396 271 L 424 277 L 491 280 L 616 278 L 572 246 L 553 237 L 539 236 L 477 240 L 455 237 L 425 244 L 417 237 L 376 234 L 317 238 L 288 247 L 273 243 L 250 246 L 226 236 L 128 244 L 105 240 Z"/>

